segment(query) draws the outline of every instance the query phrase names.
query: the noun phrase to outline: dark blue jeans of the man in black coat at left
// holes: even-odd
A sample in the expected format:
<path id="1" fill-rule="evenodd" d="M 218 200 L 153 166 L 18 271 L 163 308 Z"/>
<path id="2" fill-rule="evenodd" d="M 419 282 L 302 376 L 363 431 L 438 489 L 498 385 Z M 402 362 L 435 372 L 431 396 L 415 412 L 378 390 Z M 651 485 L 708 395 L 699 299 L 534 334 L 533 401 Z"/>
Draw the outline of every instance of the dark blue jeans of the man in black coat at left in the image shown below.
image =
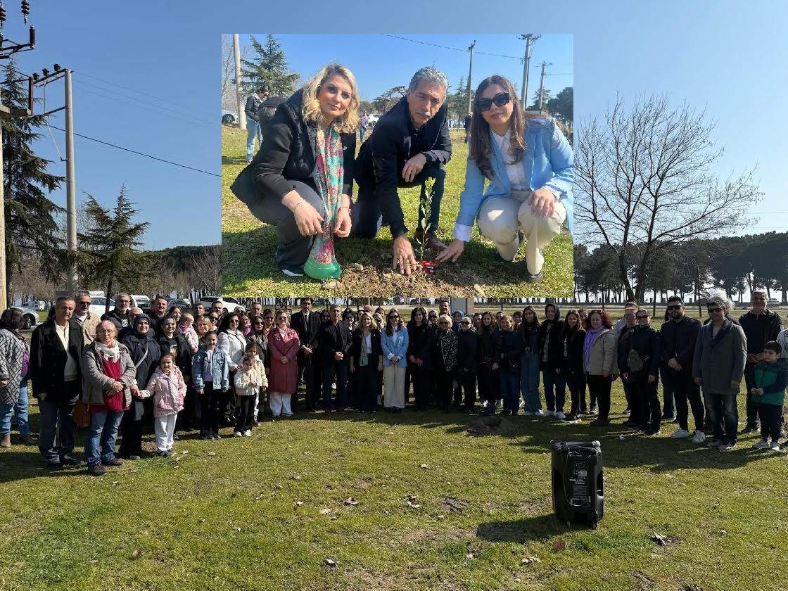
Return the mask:
<path id="1" fill-rule="evenodd" d="M 46 463 L 59 464 L 74 451 L 76 425 L 72 414 L 79 395 L 77 386 L 76 381 L 65 382 L 62 392 L 48 392 L 52 399 L 39 399 L 39 452 Z"/>

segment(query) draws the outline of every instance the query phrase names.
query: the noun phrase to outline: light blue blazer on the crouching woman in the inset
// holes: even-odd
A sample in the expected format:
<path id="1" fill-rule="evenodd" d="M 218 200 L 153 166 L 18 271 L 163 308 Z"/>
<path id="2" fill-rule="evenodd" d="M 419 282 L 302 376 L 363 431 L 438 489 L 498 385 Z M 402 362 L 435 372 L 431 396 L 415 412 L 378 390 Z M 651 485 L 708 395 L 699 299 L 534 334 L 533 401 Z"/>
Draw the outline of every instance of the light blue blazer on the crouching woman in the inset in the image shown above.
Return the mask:
<path id="1" fill-rule="evenodd" d="M 574 207 L 572 187 L 574 185 L 574 154 L 552 117 L 534 117 L 528 119 L 525 129 L 526 153 L 522 157 L 522 169 L 526 179 L 530 179 L 531 188 L 549 188 L 559 193 L 559 200 L 567 210 L 567 224 L 572 232 Z M 473 226 L 481 206 L 491 197 L 506 197 L 511 193 L 511 183 L 506 173 L 504 158 L 500 154 L 498 143 L 490 134 L 492 154 L 492 180 L 487 191 L 485 177 L 473 160 L 468 159 L 465 172 L 465 188 L 459 195 L 459 214 L 457 225 Z"/>

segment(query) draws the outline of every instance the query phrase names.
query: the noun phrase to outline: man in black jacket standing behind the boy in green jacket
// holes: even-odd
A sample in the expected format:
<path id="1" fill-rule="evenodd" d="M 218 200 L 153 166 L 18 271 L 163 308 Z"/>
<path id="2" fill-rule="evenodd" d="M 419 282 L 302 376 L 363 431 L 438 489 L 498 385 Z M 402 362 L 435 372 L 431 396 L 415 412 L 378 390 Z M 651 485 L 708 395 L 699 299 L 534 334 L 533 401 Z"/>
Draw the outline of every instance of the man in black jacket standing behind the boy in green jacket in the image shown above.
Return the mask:
<path id="1" fill-rule="evenodd" d="M 751 433 L 760 429 L 758 407 L 753 403 L 753 394 L 750 392 L 755 387 L 753 370 L 756 363 L 764 359 L 764 344 L 775 340 L 782 330 L 780 315 L 767 309 L 764 292 L 752 292 L 750 303 L 753 304 L 753 309 L 739 317 L 739 324 L 742 325 L 747 337 L 747 365 L 744 370 L 744 380 L 747 385 L 747 424 L 742 429 L 742 433 Z"/>

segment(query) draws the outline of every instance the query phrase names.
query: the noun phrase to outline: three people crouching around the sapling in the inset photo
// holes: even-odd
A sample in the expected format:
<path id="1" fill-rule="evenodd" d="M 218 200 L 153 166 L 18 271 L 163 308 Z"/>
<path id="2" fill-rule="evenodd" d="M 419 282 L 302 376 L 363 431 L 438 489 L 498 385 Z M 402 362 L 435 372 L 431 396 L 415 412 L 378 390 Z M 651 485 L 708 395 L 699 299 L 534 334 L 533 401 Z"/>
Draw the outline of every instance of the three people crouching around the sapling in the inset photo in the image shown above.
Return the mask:
<path id="1" fill-rule="evenodd" d="M 264 91 L 266 87 L 258 89 L 257 99 L 267 96 Z M 359 113 L 355 77 L 344 65 L 325 65 L 282 99 L 264 129 L 260 150 L 231 189 L 255 217 L 276 225 L 276 262 L 283 273 L 338 277 L 333 240 L 373 238 L 382 225 L 391 231 L 393 268 L 414 272 L 420 263 L 408 239 L 398 189 L 418 186 L 421 203 L 429 206 L 418 207 L 414 240 L 437 252 L 438 261 L 456 262 L 478 224 L 504 261 L 513 261 L 527 240 L 521 277 L 541 281 L 543 250 L 564 221 L 572 229 L 574 156 L 569 142 L 555 120 L 520 109 L 509 80 L 482 80 L 473 116 L 466 121 L 465 187 L 454 240 L 447 246 L 437 237 L 445 165 L 452 158 L 447 95 L 444 72 L 419 69 L 407 94 L 380 117 L 366 140 L 366 112 Z M 247 102 L 247 108 L 254 105 Z M 363 143 L 356 157 L 359 129 Z M 254 147 L 253 132 L 249 134 Z M 359 188 L 355 203 L 354 180 Z"/>

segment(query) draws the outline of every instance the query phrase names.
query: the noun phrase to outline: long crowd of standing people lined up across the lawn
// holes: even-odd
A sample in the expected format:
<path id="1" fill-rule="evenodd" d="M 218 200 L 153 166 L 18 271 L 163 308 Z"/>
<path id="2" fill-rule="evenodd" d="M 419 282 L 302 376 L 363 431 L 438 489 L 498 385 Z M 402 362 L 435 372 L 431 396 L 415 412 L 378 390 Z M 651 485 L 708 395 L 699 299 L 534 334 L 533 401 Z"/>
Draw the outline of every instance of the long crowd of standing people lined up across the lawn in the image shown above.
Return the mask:
<path id="1" fill-rule="evenodd" d="M 162 297 L 146 314 L 121 293 L 116 307 L 99 318 L 90 304 L 87 292 L 59 298 L 29 346 L 20 334 L 20 310 L 0 316 L 0 447 L 10 447 L 14 413 L 22 439 L 32 444 L 29 378 L 39 403 L 39 450 L 53 470 L 81 464 L 72 455 L 77 403 L 90 414 L 87 469 L 101 475 L 106 466 L 143 455 L 147 420 L 154 424 L 158 454 L 166 456 L 173 454 L 177 429 L 196 426 L 210 440 L 221 437 L 223 426 L 232 426 L 234 437 L 248 437 L 266 414 L 277 420 L 299 410 L 329 415 L 381 407 L 397 413 L 406 408 L 411 387 L 415 411 L 522 409 L 526 416 L 563 422 L 589 414 L 597 415 L 591 425 L 605 426 L 611 384 L 619 376 L 624 424 L 646 435 L 675 420 L 671 437 L 701 444 L 711 434 L 710 447 L 730 451 L 744 380 L 743 432 L 760 428 L 756 448 L 779 450 L 785 437 L 788 329 L 761 292 L 753 292 L 752 309 L 738 319 L 730 315 L 730 300 L 712 296 L 703 325 L 672 296 L 659 330 L 637 303 L 627 303 L 615 325 L 604 310 L 562 314 L 556 303 L 545 305 L 544 319 L 531 306 L 511 316 L 466 315 L 450 310 L 448 299 L 437 311 L 414 307 L 407 315 L 371 306 L 356 313 L 337 304 L 317 312 L 309 297 L 292 315 L 260 303 L 227 312 L 221 299 L 210 310 L 199 304 L 181 310 Z"/>

